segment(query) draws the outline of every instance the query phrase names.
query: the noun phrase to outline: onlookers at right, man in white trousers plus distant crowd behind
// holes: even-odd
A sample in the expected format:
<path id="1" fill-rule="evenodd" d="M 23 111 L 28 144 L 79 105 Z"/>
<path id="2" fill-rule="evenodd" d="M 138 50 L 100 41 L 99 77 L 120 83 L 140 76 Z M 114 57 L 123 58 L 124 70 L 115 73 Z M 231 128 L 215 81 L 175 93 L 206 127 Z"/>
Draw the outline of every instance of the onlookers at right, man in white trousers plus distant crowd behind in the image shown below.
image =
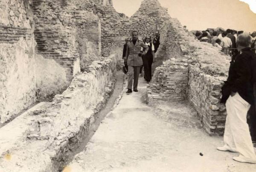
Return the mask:
<path id="1" fill-rule="evenodd" d="M 217 149 L 239 152 L 233 160 L 256 164 L 252 142 L 256 140 L 256 31 L 250 34 L 232 29 L 206 30 L 196 32 L 195 37 L 231 56 L 228 78 L 221 90 L 221 103 L 227 109 L 224 146 Z"/>

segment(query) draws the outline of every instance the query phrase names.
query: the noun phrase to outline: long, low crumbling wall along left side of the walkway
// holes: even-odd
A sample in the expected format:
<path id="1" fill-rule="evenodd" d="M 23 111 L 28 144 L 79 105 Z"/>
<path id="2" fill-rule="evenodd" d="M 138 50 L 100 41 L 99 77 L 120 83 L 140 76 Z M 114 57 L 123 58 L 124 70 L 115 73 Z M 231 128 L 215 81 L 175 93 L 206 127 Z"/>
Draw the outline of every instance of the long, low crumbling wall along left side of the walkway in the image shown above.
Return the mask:
<path id="1" fill-rule="evenodd" d="M 93 62 L 53 102 L 41 102 L 0 128 L 0 171 L 57 170 L 52 160 L 76 149 L 113 91 L 116 58 Z M 4 160 L 7 154 L 12 161 Z"/>

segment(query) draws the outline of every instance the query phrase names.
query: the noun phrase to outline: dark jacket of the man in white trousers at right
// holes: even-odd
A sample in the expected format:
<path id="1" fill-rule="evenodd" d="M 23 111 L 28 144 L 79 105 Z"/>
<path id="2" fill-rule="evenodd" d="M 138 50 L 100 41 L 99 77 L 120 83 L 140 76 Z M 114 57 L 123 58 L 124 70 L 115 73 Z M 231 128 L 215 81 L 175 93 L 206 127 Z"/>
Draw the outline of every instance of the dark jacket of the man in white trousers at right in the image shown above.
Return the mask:
<path id="1" fill-rule="evenodd" d="M 251 48 L 244 48 L 230 62 L 228 78 L 222 87 L 221 102 L 225 103 L 233 91 L 238 92 L 246 102 L 254 104 L 254 83 L 256 83 L 256 54 Z"/>

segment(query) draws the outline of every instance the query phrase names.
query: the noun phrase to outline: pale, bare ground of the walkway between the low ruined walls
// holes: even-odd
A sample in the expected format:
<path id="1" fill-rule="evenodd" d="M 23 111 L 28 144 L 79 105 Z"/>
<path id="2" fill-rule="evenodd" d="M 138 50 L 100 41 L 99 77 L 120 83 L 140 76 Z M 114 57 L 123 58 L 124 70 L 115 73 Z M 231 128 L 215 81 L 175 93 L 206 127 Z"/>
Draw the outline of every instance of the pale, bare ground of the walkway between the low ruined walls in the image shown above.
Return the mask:
<path id="1" fill-rule="evenodd" d="M 216 150 L 222 137 L 209 136 L 188 103 L 145 104 L 146 85 L 140 77 L 139 92 L 123 94 L 64 172 L 255 172 Z"/>

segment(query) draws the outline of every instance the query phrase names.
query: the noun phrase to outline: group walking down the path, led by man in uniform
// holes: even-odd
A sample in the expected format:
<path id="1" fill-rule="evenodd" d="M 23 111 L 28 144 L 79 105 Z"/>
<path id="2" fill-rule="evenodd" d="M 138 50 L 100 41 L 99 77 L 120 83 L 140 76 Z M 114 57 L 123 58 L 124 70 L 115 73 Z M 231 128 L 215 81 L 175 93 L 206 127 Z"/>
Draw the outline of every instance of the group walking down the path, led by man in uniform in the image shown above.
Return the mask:
<path id="1" fill-rule="evenodd" d="M 123 56 L 125 65 L 123 72 L 128 73 L 128 90 L 127 94 L 138 92 L 139 74 L 144 67 L 144 79 L 149 83 L 152 76 L 152 63 L 154 62 L 155 53 L 160 45 L 160 34 L 155 33 L 153 42 L 150 36 L 143 37 L 143 40 L 138 39 L 138 32 L 132 31 L 131 38 L 125 39 L 123 48 Z"/>

